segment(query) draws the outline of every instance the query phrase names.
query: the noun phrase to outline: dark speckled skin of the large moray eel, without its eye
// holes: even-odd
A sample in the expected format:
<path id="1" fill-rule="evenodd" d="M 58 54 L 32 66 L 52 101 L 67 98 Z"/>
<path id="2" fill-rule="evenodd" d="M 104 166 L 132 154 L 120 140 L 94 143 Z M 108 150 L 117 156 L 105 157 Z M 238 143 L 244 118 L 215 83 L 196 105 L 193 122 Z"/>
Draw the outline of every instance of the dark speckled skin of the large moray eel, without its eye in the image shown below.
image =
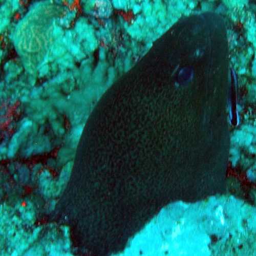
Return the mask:
<path id="1" fill-rule="evenodd" d="M 181 67 L 194 79 L 177 82 Z M 95 255 L 122 250 L 164 205 L 225 192 L 228 46 L 223 19 L 180 19 L 106 91 L 52 216 Z"/>

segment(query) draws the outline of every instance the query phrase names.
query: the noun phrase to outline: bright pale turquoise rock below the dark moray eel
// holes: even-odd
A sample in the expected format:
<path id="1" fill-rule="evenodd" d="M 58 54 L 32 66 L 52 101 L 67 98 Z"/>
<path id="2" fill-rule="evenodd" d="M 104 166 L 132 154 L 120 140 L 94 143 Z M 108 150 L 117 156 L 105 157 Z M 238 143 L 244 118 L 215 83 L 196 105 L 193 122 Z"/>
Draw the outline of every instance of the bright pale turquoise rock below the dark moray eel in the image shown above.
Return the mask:
<path id="1" fill-rule="evenodd" d="M 221 248 L 225 248 L 222 255 L 232 255 L 233 248 L 240 255 L 253 255 L 255 227 L 256 208 L 233 196 L 189 204 L 179 201 L 163 207 L 129 240 L 123 252 L 112 256 L 210 256 L 220 255 Z"/>

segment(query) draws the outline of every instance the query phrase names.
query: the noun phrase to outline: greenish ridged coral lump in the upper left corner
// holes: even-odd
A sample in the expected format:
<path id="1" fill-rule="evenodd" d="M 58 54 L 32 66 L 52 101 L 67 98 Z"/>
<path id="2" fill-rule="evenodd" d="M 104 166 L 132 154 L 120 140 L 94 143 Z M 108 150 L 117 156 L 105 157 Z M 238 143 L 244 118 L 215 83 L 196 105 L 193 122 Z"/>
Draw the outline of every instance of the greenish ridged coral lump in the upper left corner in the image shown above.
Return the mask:
<path id="1" fill-rule="evenodd" d="M 33 5 L 20 20 L 13 34 L 14 46 L 22 59 L 24 68 L 36 74 L 36 68 L 52 44 L 54 18 L 65 15 L 66 8 L 48 1 Z"/>

